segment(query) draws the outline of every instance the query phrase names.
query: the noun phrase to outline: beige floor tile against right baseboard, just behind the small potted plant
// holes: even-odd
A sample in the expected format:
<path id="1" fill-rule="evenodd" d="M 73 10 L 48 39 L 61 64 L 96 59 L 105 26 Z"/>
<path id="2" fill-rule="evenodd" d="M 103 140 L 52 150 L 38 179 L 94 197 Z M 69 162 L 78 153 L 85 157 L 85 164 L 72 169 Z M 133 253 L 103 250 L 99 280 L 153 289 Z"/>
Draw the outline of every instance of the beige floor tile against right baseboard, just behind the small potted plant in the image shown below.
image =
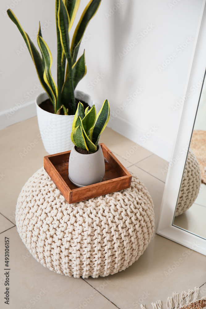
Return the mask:
<path id="1" fill-rule="evenodd" d="M 137 145 L 110 128 L 106 128 L 103 131 L 100 136 L 100 142 L 105 143 L 111 151 L 114 151 L 117 155 L 133 164 L 152 155 L 152 152 L 149 150 Z"/>

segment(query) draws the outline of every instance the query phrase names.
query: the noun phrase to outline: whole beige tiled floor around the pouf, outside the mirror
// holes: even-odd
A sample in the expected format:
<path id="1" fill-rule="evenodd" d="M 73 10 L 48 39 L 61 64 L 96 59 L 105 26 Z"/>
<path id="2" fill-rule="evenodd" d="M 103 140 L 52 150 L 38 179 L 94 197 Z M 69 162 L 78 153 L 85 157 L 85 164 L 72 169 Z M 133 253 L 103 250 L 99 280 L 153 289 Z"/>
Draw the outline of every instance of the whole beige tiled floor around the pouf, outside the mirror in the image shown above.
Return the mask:
<path id="1" fill-rule="evenodd" d="M 43 166 L 46 155 L 38 138 L 36 117 L 0 131 L 0 308 L 4 304 L 4 239 L 10 239 L 11 309 L 147 309 L 158 299 L 165 302 L 174 291 L 193 289 L 206 281 L 206 257 L 178 243 L 154 235 L 148 248 L 132 266 L 115 275 L 99 278 L 65 277 L 44 268 L 28 252 L 15 226 L 15 204 L 27 179 Z M 25 148 L 31 147 L 30 151 Z M 166 175 L 161 169 L 167 162 L 120 134 L 106 128 L 104 142 L 130 171 L 148 188 L 154 202 L 157 221 Z M 176 261 L 182 257 L 183 262 Z M 176 267 L 176 268 L 175 268 Z M 170 271 L 169 271 L 170 270 Z M 206 288 L 200 290 L 206 295 Z"/>

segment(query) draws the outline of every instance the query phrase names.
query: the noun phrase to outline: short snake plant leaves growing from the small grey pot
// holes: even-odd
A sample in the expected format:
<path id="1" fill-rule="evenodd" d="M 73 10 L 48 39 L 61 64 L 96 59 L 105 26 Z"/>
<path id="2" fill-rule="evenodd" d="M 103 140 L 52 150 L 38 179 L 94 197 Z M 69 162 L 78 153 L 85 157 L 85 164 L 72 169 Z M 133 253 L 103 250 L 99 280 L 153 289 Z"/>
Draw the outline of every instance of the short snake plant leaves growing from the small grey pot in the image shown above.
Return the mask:
<path id="1" fill-rule="evenodd" d="M 83 104 L 79 102 L 72 125 L 71 140 L 75 146 L 94 153 L 97 151 L 100 134 L 109 121 L 109 102 L 104 101 L 97 115 L 95 105 L 88 109 L 89 107 L 84 111 Z"/>

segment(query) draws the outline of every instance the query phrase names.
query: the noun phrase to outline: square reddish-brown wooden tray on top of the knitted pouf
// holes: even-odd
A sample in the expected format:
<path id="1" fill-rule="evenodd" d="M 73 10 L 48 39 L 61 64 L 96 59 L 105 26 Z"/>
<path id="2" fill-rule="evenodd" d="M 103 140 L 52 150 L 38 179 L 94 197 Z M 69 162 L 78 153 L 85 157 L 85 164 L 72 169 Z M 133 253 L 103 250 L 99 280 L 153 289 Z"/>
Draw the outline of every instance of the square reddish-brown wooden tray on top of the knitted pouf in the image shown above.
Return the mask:
<path id="1" fill-rule="evenodd" d="M 102 147 L 105 162 L 104 178 L 97 184 L 82 188 L 76 187 L 68 177 L 70 151 L 44 157 L 45 171 L 69 204 L 130 187 L 132 180 L 130 173 L 106 145 L 101 143 L 100 146 Z"/>

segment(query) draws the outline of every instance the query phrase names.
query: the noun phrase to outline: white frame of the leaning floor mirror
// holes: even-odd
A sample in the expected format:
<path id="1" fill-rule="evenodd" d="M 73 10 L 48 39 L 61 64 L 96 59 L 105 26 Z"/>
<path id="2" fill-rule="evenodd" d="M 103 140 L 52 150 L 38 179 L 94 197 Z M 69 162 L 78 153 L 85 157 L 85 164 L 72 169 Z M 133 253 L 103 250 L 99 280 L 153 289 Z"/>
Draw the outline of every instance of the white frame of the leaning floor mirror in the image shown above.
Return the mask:
<path id="1" fill-rule="evenodd" d="M 156 233 L 177 243 L 191 248 L 197 252 L 206 255 L 206 239 L 194 235 L 188 231 L 172 225 L 176 203 L 179 196 L 182 176 L 184 172 L 185 162 L 187 159 L 187 151 L 185 147 L 190 144 L 191 134 L 195 122 L 195 116 L 199 104 L 202 83 L 204 82 L 206 68 L 206 10 L 203 1 L 200 14 L 200 21 L 195 38 L 195 45 L 192 54 L 192 61 L 187 77 L 186 89 L 184 95 L 189 93 L 185 103 L 181 106 L 181 121 L 179 132 L 177 134 L 176 144 L 173 147 L 173 155 L 170 160 L 170 169 L 167 173 L 165 189 L 162 198 L 160 216 L 158 218 Z M 178 74 L 178 73 L 177 73 Z M 201 86 L 195 92 L 190 91 L 191 87 L 203 78 Z M 198 84 L 199 85 L 199 84 Z M 180 153 L 180 150 L 181 153 Z M 182 154 L 183 153 L 183 154 Z M 206 224 L 205 224 L 206 228 Z"/>

